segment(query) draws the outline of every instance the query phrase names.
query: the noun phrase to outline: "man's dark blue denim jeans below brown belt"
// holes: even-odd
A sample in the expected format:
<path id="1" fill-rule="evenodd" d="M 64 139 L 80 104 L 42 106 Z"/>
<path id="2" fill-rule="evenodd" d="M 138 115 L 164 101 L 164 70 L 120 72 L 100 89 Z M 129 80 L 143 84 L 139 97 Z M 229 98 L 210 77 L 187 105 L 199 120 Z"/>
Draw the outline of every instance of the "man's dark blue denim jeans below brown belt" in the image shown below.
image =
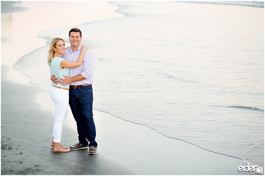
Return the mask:
<path id="1" fill-rule="evenodd" d="M 92 85 L 70 88 L 69 105 L 77 124 L 79 143 L 97 147 L 96 127 L 93 119 L 93 90 Z M 88 142 L 89 141 L 89 144 Z"/>

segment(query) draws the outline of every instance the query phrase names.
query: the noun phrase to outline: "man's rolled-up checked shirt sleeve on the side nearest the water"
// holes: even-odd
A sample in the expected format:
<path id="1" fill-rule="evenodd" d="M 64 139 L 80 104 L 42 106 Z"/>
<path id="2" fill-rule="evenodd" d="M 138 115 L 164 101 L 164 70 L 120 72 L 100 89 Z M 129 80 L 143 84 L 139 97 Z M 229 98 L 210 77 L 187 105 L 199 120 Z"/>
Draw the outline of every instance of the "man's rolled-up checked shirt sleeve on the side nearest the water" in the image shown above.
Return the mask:
<path id="1" fill-rule="evenodd" d="M 95 58 L 93 54 L 89 50 L 86 50 L 83 60 L 83 69 L 82 69 L 83 71 L 81 72 L 81 75 L 86 79 L 92 77 L 94 65 L 95 65 Z"/>

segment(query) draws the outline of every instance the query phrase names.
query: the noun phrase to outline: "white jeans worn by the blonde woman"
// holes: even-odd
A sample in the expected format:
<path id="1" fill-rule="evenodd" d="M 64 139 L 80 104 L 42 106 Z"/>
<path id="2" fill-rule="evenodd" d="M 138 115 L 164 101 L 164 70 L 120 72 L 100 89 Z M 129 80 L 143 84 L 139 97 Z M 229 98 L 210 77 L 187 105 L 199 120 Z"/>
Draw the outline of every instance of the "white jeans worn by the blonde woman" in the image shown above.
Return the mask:
<path id="1" fill-rule="evenodd" d="M 67 117 L 67 109 L 69 103 L 69 90 L 51 87 L 50 95 L 55 105 L 55 120 L 53 126 L 53 141 L 56 143 L 61 142 L 62 126 Z"/>

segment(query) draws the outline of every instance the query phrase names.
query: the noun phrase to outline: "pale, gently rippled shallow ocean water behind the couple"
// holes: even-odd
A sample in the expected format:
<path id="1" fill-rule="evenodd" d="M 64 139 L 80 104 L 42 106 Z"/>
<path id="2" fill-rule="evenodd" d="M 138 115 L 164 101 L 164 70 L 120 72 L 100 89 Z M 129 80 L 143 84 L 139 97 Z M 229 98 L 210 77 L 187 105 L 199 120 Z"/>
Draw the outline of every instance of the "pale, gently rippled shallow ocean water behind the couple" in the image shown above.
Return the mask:
<path id="1" fill-rule="evenodd" d="M 94 109 L 264 167 L 264 7 L 110 3 L 125 16 L 76 26 L 96 59 Z M 14 68 L 48 92 L 47 50 Z"/>

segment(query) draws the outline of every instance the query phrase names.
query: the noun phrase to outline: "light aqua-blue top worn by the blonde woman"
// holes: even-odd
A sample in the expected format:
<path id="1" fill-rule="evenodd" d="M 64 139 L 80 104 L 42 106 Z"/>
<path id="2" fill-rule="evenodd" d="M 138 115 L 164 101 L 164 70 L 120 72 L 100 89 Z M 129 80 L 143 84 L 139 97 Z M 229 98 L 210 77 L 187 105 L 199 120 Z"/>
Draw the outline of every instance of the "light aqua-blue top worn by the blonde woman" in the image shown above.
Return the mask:
<path id="1" fill-rule="evenodd" d="M 64 68 L 61 69 L 60 64 L 61 62 L 65 60 L 62 57 L 54 57 L 52 59 L 51 65 L 50 65 L 50 71 L 52 75 L 55 75 L 56 78 L 65 78 L 64 76 L 69 76 L 69 68 Z M 59 80 L 57 79 L 57 80 Z M 69 84 L 67 84 L 66 86 L 62 86 L 62 84 L 54 84 L 54 82 L 52 82 L 52 85 L 56 86 L 56 87 L 64 87 L 64 88 L 68 88 L 69 89 Z"/>

